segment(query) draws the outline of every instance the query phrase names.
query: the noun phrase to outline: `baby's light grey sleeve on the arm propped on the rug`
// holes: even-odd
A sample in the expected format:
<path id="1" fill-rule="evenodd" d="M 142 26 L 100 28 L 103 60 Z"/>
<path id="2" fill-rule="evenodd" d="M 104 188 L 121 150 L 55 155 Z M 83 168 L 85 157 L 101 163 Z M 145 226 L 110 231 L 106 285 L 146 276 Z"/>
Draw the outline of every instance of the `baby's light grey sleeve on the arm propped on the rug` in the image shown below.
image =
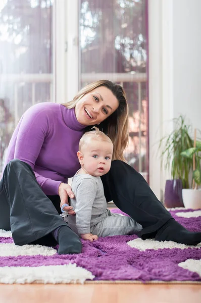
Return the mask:
<path id="1" fill-rule="evenodd" d="M 90 233 L 92 205 L 96 196 L 96 183 L 93 179 L 82 179 L 76 191 L 76 225 L 79 234 Z"/>

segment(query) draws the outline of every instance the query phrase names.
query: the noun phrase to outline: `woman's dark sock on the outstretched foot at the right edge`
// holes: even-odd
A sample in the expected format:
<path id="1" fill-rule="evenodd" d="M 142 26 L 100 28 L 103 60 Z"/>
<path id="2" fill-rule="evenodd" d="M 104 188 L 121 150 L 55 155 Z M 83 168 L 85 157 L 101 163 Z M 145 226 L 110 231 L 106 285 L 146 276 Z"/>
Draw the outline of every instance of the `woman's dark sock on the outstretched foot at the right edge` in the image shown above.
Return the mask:
<path id="1" fill-rule="evenodd" d="M 201 232 L 188 231 L 177 221 L 170 219 L 157 231 L 155 240 L 197 245 L 201 242 Z"/>

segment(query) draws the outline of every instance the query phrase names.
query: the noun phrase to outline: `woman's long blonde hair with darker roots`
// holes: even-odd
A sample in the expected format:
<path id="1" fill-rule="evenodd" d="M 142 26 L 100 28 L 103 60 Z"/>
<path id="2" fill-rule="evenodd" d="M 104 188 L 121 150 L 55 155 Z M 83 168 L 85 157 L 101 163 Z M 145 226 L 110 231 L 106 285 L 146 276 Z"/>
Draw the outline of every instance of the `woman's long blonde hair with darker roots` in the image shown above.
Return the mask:
<path id="1" fill-rule="evenodd" d="M 119 102 L 118 109 L 104 120 L 99 125 L 96 125 L 100 130 L 109 136 L 114 145 L 113 160 L 125 161 L 123 156 L 123 151 L 128 145 L 128 104 L 126 100 L 126 93 L 123 87 L 109 80 L 99 80 L 90 83 L 83 87 L 73 98 L 72 101 L 64 103 L 63 105 L 72 109 L 75 108 L 78 101 L 91 90 L 99 87 L 105 86 L 112 91 L 114 96 Z M 91 128 L 91 126 L 90 126 Z M 86 127 L 86 131 L 89 127 Z"/>

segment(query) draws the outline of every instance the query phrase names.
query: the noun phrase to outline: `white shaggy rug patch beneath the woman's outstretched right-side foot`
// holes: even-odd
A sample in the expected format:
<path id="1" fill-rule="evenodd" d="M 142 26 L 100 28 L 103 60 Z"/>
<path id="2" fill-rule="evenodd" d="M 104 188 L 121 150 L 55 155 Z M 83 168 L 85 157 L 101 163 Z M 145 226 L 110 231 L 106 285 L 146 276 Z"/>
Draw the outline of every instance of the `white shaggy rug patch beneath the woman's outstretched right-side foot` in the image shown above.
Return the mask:
<path id="1" fill-rule="evenodd" d="M 142 240 L 140 238 L 128 241 L 127 244 L 130 247 L 137 248 L 141 251 L 145 251 L 146 249 L 163 249 L 163 248 L 180 248 L 180 249 L 186 249 L 188 247 L 190 248 L 199 248 L 201 247 L 201 243 L 197 244 L 196 246 L 192 245 L 185 245 L 181 243 L 176 243 L 173 241 L 155 241 L 154 239 L 146 239 Z"/>

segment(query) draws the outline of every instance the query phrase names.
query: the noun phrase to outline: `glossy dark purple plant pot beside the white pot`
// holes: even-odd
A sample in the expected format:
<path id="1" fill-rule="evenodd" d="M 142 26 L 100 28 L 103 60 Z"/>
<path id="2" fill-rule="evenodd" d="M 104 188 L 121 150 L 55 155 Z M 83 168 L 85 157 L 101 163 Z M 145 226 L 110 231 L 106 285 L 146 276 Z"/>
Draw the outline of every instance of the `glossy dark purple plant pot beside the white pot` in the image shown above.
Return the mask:
<path id="1" fill-rule="evenodd" d="M 164 203 L 167 208 L 184 207 L 180 179 L 166 180 Z"/>

